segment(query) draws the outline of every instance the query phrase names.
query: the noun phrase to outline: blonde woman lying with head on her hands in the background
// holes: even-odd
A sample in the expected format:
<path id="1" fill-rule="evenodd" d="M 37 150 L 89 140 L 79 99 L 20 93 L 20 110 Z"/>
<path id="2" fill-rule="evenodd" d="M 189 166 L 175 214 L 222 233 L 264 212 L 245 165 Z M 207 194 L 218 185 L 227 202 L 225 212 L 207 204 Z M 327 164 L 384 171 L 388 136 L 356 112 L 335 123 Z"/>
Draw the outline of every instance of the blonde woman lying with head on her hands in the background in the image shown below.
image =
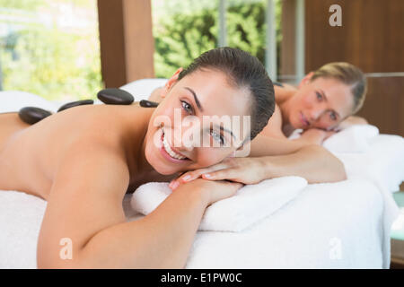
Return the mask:
<path id="1" fill-rule="evenodd" d="M 285 138 L 303 129 L 297 141 L 321 144 L 344 126 L 367 123 L 352 116 L 362 108 L 365 94 L 364 74 L 355 65 L 323 65 L 307 74 L 297 88 L 275 86 L 275 113 L 260 135 Z"/>

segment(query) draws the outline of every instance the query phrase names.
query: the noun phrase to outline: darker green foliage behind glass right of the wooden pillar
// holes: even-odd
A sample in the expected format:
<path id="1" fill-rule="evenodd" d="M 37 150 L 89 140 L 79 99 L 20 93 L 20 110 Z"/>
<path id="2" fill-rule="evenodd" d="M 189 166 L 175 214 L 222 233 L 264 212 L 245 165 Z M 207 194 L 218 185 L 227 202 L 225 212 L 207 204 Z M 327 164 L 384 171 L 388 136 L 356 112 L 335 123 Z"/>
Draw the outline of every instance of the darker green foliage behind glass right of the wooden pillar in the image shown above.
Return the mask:
<path id="1" fill-rule="evenodd" d="M 154 70 L 170 77 L 180 66 L 217 47 L 218 1 L 152 0 L 154 8 Z M 227 46 L 241 48 L 265 63 L 266 9 L 264 0 L 227 0 Z M 280 43 L 281 4 L 277 0 L 276 29 Z"/>

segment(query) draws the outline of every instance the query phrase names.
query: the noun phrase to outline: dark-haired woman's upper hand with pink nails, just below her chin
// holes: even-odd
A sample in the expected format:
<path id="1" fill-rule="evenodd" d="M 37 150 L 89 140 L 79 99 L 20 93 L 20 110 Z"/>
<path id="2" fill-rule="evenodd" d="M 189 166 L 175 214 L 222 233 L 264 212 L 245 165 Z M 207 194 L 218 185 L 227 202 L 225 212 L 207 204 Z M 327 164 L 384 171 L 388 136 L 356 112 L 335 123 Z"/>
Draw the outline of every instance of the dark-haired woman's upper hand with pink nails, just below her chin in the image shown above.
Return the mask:
<path id="1" fill-rule="evenodd" d="M 180 184 L 204 178 L 209 180 L 227 179 L 242 184 L 256 184 L 265 179 L 263 163 L 259 158 L 226 158 L 205 169 L 191 170 L 179 178 L 171 180 L 170 187 L 175 190 Z"/>

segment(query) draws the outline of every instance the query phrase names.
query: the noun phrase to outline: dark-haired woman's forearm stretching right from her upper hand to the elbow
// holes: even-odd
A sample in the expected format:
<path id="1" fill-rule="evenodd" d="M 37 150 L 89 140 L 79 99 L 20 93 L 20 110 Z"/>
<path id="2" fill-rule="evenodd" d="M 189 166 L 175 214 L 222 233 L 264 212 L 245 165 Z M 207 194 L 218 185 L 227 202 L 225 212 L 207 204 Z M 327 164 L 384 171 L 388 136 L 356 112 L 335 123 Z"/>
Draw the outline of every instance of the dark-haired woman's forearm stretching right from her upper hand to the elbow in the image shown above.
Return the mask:
<path id="1" fill-rule="evenodd" d="M 260 157 L 264 178 L 299 176 L 309 183 L 335 182 L 347 179 L 344 165 L 321 146 L 307 145 L 297 152 Z"/>

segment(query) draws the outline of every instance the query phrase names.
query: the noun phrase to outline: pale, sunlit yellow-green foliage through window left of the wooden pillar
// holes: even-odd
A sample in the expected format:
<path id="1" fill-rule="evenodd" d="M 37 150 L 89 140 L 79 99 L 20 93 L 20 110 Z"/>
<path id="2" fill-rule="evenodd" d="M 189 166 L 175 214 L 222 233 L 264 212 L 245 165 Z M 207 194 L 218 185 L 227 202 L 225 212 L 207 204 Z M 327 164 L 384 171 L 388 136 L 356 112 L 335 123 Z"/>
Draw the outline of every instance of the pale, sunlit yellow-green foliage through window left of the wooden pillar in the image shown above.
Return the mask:
<path id="1" fill-rule="evenodd" d="M 8 29 L 0 38 L 2 88 L 48 100 L 94 99 L 102 88 L 97 23 L 81 31 L 38 20 L 57 4 L 95 9 L 88 0 L 0 0 L 0 24 Z"/>

